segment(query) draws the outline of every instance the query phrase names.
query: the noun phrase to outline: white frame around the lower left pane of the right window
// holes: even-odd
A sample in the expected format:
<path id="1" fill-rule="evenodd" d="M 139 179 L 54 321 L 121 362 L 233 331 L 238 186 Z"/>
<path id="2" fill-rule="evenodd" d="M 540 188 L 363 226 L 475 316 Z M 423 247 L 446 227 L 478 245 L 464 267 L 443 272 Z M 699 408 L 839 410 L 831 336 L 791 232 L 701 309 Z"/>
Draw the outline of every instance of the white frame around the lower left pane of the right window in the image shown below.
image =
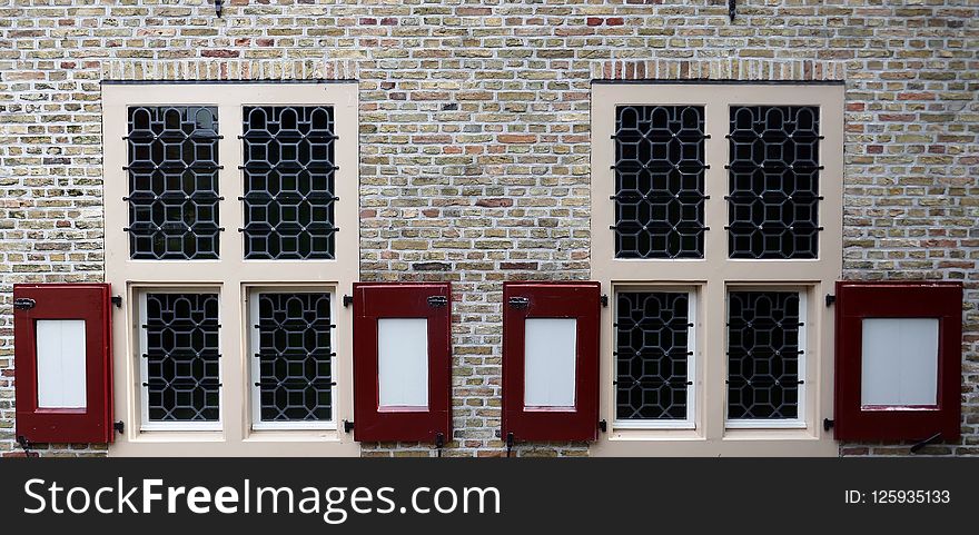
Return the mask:
<path id="1" fill-rule="evenodd" d="M 700 336 L 700 316 L 698 316 L 698 288 L 690 286 L 615 286 L 613 288 L 614 298 L 612 301 L 615 304 L 615 309 L 613 310 L 613 317 L 619 317 L 619 294 L 620 293 L 631 293 L 631 291 L 650 291 L 650 293 L 670 293 L 670 294 L 686 294 L 686 317 L 688 323 L 692 324 L 688 327 L 686 331 L 686 351 L 690 354 L 686 356 L 686 380 L 690 383 L 686 385 L 686 418 L 680 419 L 612 419 L 612 429 L 695 429 L 696 428 L 696 398 L 698 398 L 698 366 L 696 363 L 701 358 L 698 337 Z M 612 334 L 613 340 L 617 337 L 617 328 L 615 333 Z M 613 359 L 613 368 L 619 366 L 619 359 Z M 617 376 L 617 370 L 613 369 L 613 374 Z M 617 395 L 617 387 L 613 385 L 615 388 L 615 395 Z M 615 414 L 615 412 L 613 412 Z"/>

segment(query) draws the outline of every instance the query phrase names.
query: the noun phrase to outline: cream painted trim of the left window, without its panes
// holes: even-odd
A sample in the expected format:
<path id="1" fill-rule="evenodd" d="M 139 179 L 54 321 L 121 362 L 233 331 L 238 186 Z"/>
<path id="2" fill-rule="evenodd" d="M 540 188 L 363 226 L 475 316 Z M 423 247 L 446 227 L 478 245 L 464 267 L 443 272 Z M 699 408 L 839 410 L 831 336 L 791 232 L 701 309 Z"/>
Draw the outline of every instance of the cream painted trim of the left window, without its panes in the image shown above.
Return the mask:
<path id="1" fill-rule="evenodd" d="M 129 221 L 122 197 L 128 178 L 122 170 L 127 150 L 126 109 L 138 105 L 209 105 L 218 107 L 220 165 L 220 235 L 218 260 L 130 260 L 123 227 Z M 243 237 L 237 231 L 244 217 L 238 197 L 244 195 L 241 135 L 243 106 L 332 105 L 336 133 L 335 260 L 244 260 Z M 110 456 L 358 456 L 359 445 L 340 428 L 353 419 L 353 314 L 336 307 L 337 386 L 335 418 L 329 429 L 250 430 L 250 367 L 247 365 L 244 328 L 245 293 L 253 285 L 303 285 L 333 288 L 336 295 L 350 291 L 359 269 L 358 220 L 358 91 L 357 83 L 199 83 L 199 85 L 103 85 L 102 143 L 105 187 L 106 280 L 122 308 L 113 308 L 112 349 L 116 418 L 126 433 L 109 446 Z M 215 432 L 141 432 L 137 380 L 138 291 L 144 288 L 217 288 L 220 299 L 221 428 Z"/>

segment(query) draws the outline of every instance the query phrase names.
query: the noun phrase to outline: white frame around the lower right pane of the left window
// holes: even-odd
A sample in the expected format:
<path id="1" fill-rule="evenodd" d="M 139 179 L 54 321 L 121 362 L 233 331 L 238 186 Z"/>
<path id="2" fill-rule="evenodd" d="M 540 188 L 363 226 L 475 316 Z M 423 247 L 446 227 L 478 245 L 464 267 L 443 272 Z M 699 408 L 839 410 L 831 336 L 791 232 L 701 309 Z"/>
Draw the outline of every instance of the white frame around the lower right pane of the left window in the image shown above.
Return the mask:
<path id="1" fill-rule="evenodd" d="M 251 385 L 251 395 L 249 396 L 249 404 L 251 405 L 251 429 L 253 430 L 276 430 L 276 429 L 334 429 L 337 426 L 336 422 L 336 380 L 334 380 L 334 388 L 330 392 L 330 415 L 328 420 L 281 420 L 281 422 L 263 422 L 261 420 L 261 387 L 257 385 L 258 379 L 261 377 L 261 363 L 258 358 L 255 357 L 256 348 L 260 345 L 259 340 L 259 328 L 258 328 L 258 295 L 259 294 L 329 294 L 329 318 L 330 323 L 333 323 L 334 318 L 337 314 L 337 291 L 336 288 L 333 287 L 323 287 L 323 288 L 314 288 L 314 287 L 290 287 L 290 286 L 249 286 L 247 288 L 246 294 L 246 304 L 248 309 L 248 315 L 246 316 L 245 328 L 249 333 L 248 336 L 248 345 L 245 355 L 251 357 L 249 363 L 251 364 L 251 375 L 250 382 Z M 333 328 L 330 331 L 330 350 L 335 354 L 339 354 L 339 348 L 337 347 L 336 341 L 336 329 Z M 337 373 L 337 357 L 330 357 L 330 374 L 336 375 Z"/>

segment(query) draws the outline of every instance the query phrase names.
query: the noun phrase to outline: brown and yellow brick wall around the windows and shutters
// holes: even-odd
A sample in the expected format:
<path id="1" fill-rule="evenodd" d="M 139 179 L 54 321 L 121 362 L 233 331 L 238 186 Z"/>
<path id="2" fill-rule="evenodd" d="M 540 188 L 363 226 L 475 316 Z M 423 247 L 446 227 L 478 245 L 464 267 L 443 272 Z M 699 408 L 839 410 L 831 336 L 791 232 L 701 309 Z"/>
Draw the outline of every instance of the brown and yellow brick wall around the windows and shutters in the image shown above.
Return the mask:
<path id="1" fill-rule="evenodd" d="M 230 0 L 220 19 L 202 0 L 0 0 L 0 454 L 11 285 L 103 276 L 99 81 L 315 78 L 360 81 L 362 279 L 455 285 L 446 455 L 502 452 L 501 281 L 589 278 L 593 78 L 846 80 L 844 275 L 966 283 L 963 438 L 928 452 L 979 453 L 979 6 L 738 4 L 732 22 L 722 0 Z"/>

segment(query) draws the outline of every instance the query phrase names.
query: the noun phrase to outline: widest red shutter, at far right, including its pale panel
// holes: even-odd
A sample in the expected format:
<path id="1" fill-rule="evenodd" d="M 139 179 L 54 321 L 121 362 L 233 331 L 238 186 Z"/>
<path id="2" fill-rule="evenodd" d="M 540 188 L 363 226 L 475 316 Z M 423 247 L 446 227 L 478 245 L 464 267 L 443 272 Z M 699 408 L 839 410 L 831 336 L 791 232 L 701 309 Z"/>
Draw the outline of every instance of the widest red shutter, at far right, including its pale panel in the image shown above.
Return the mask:
<path id="1" fill-rule="evenodd" d="M 843 281 L 835 303 L 835 438 L 958 440 L 962 285 Z"/>

